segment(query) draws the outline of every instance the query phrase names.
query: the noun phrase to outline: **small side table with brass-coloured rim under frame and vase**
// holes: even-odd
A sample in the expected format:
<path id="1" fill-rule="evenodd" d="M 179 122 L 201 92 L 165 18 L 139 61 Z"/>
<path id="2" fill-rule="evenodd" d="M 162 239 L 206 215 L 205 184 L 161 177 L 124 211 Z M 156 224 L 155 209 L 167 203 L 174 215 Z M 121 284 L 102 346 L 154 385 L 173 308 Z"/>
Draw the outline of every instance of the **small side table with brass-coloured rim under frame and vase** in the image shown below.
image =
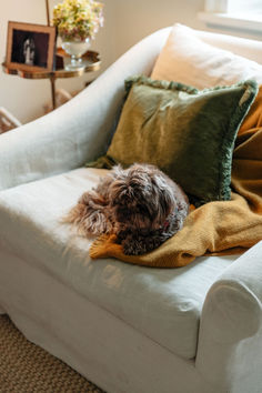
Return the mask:
<path id="1" fill-rule="evenodd" d="M 58 58 L 63 60 L 62 68 L 57 68 L 54 71 L 22 71 L 19 69 L 9 69 L 6 62 L 2 63 L 3 72 L 10 75 L 18 75 L 26 79 L 49 79 L 51 83 L 51 94 L 52 94 L 52 108 L 57 108 L 56 103 L 56 80 L 61 78 L 75 78 L 81 77 L 85 72 L 93 72 L 100 69 L 100 58 L 99 53 L 94 51 L 88 51 L 82 56 L 81 68 L 75 70 L 67 70 L 67 64 L 70 63 L 70 56 L 67 54 L 62 48 L 57 50 Z"/>

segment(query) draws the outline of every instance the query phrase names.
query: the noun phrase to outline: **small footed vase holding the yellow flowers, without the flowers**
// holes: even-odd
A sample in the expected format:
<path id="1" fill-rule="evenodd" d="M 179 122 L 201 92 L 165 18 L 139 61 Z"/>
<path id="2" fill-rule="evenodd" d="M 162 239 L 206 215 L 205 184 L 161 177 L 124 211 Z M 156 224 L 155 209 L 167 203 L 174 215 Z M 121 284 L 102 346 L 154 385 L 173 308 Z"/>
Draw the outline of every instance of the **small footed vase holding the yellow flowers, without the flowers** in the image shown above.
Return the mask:
<path id="1" fill-rule="evenodd" d="M 71 56 L 71 62 L 67 64 L 67 69 L 78 69 L 82 66 L 82 54 L 87 52 L 90 47 L 90 39 L 85 40 L 62 40 L 62 49 Z"/>

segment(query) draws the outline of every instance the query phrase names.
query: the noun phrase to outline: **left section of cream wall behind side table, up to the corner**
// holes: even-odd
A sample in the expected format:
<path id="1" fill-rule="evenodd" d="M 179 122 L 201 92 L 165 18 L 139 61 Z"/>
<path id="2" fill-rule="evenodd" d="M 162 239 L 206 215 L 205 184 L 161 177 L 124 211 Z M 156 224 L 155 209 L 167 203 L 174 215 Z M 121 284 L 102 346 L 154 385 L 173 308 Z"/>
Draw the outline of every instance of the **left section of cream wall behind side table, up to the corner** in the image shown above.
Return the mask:
<path id="1" fill-rule="evenodd" d="M 49 0 L 50 11 L 59 0 Z M 104 0 L 105 23 L 97 34 L 91 49 L 102 54 L 101 71 L 114 59 L 113 14 L 114 9 L 110 0 Z M 47 23 L 44 0 L 0 0 L 0 60 L 6 57 L 8 21 L 30 23 Z M 81 78 L 60 79 L 57 88 L 68 91 L 82 89 L 85 81 L 93 79 L 98 73 L 85 73 Z M 0 70 L 0 107 L 8 109 L 22 123 L 29 122 L 43 114 L 43 104 L 51 101 L 51 88 L 48 79 L 28 80 L 17 75 L 8 75 Z"/>

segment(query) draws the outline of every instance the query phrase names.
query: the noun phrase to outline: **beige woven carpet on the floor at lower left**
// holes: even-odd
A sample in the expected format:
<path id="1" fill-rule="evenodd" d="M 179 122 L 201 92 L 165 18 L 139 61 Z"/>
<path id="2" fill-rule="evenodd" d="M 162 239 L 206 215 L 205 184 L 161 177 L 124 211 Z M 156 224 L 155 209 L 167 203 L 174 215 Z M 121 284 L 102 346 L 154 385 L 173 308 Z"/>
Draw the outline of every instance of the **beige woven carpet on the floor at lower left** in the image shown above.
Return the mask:
<path id="1" fill-rule="evenodd" d="M 67 364 L 29 342 L 0 315 L 1 393 L 102 393 Z"/>

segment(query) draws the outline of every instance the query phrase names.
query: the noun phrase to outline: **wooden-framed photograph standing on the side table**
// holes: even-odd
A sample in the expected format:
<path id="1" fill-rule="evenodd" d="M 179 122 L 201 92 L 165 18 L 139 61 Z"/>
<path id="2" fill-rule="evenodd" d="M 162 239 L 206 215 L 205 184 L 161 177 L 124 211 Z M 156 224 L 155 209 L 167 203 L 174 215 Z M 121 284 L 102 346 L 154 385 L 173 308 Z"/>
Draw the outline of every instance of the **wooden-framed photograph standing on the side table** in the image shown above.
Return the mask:
<path id="1" fill-rule="evenodd" d="M 52 71 L 54 54 L 54 27 L 8 22 L 6 63 L 9 69 Z"/>

